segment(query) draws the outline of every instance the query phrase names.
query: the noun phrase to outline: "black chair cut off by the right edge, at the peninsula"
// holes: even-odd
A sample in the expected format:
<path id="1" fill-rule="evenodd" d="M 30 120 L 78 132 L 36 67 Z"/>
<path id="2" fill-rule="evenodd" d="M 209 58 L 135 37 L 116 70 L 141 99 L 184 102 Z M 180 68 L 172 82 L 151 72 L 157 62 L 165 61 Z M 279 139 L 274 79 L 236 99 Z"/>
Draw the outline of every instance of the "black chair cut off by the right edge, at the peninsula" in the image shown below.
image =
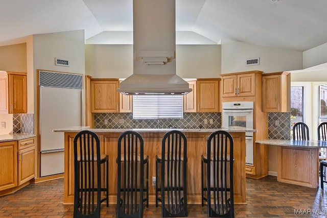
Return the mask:
<path id="1" fill-rule="evenodd" d="M 318 140 L 323 140 L 323 141 L 327 141 L 327 122 L 323 122 L 321 124 L 318 125 Z M 323 183 L 326 183 L 327 181 L 325 180 L 325 167 L 327 167 L 327 161 L 326 159 L 326 152 L 325 152 L 325 148 L 322 149 L 322 153 L 321 154 L 321 149 L 319 152 L 319 160 L 320 160 L 320 168 L 319 168 L 319 173 L 320 173 L 320 187 L 323 190 Z M 324 155 L 324 156 L 323 156 Z"/>

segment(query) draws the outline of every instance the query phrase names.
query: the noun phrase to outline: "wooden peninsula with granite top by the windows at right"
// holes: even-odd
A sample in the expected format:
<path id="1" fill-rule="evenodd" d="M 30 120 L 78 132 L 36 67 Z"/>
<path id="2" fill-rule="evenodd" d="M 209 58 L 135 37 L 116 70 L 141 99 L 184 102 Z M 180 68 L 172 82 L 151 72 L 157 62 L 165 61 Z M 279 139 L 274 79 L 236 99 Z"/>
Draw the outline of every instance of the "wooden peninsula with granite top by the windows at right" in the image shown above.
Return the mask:
<path id="1" fill-rule="evenodd" d="M 327 141 L 265 139 L 255 143 L 277 146 L 277 181 L 319 187 L 319 149 Z"/>

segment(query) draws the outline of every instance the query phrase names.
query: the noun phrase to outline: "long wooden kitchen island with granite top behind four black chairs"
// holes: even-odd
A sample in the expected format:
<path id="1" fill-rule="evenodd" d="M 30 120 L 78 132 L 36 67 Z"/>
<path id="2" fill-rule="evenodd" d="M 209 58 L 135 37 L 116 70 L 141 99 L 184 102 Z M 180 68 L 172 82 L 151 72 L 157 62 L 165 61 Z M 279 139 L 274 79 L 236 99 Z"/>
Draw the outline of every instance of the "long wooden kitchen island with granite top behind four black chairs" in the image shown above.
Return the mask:
<path id="1" fill-rule="evenodd" d="M 64 132 L 64 204 L 74 202 L 74 137 L 82 130 L 98 134 L 101 151 L 109 156 L 109 203 L 116 203 L 117 188 L 117 151 L 118 138 L 122 132 L 133 130 L 144 139 L 144 154 L 149 156 L 149 202 L 155 203 L 155 188 L 152 177 L 155 176 L 155 155 L 161 154 L 161 139 L 173 129 L 89 129 L 87 127 L 72 127 L 56 129 L 54 132 Z M 246 128 L 226 129 L 174 129 L 183 132 L 188 139 L 188 202 L 201 203 L 201 155 L 206 154 L 208 136 L 217 130 L 225 130 L 231 134 L 234 141 L 233 184 L 234 202 L 245 204 L 245 132 L 256 132 Z M 59 133 L 58 133 L 59 134 Z M 103 178 L 104 184 L 104 178 Z"/>

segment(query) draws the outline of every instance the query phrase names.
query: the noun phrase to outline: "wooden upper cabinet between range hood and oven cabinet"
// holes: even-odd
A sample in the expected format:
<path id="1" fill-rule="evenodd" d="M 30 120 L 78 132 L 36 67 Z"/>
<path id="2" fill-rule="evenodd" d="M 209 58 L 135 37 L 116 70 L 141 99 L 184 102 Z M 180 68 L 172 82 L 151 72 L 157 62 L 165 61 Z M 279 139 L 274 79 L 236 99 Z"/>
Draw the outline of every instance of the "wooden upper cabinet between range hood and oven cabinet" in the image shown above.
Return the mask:
<path id="1" fill-rule="evenodd" d="M 219 112 L 220 79 L 189 81 L 192 92 L 184 95 L 184 112 Z"/>

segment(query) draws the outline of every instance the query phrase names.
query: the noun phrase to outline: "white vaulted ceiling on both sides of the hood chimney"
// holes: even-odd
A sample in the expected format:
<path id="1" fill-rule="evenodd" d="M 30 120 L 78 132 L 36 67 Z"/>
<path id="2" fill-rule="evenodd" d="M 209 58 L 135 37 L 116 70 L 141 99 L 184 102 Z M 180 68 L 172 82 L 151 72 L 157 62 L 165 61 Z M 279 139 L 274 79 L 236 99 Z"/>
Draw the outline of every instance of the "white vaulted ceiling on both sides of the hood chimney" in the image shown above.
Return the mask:
<path id="1" fill-rule="evenodd" d="M 86 43 L 131 44 L 132 3 L 0 0 L 0 44 L 82 29 Z M 326 8 L 326 0 L 176 0 L 176 43 L 233 40 L 306 51 L 327 42 Z"/>

